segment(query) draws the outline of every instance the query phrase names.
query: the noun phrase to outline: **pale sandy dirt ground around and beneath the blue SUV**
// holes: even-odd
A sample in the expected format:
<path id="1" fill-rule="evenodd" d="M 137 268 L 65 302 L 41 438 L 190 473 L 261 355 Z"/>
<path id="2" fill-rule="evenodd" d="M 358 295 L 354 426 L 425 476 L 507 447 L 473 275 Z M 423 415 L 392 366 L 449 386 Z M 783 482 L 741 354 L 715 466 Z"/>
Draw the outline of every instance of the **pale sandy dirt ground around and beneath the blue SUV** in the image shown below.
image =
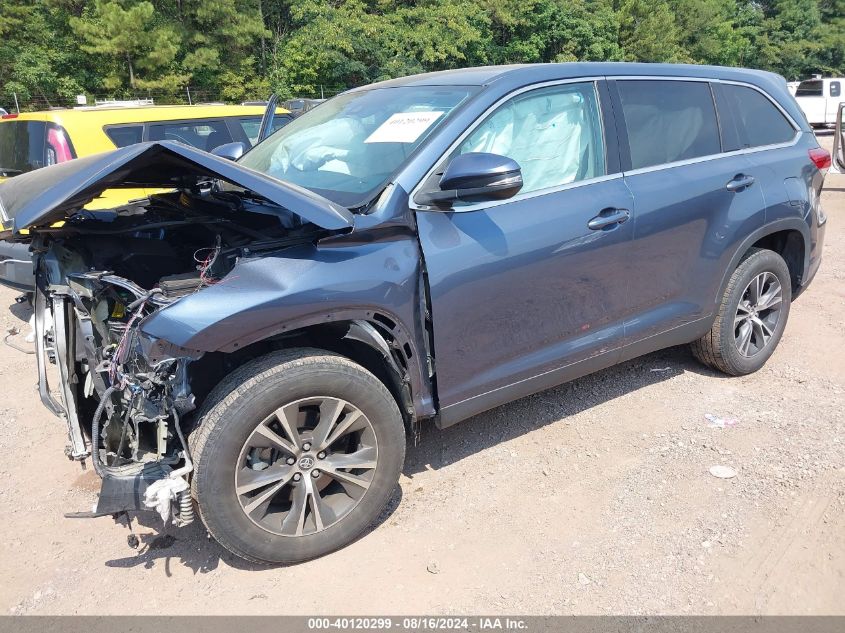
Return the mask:
<path id="1" fill-rule="evenodd" d="M 762 371 L 728 379 L 672 349 L 426 431 L 378 527 L 293 567 L 245 564 L 198 524 L 175 541 L 141 526 L 136 552 L 109 518 L 63 518 L 95 477 L 64 458 L 34 357 L 0 345 L 0 607 L 845 614 L 845 176 L 823 204 L 822 269 Z M 25 326 L 14 296 L 4 331 Z"/>

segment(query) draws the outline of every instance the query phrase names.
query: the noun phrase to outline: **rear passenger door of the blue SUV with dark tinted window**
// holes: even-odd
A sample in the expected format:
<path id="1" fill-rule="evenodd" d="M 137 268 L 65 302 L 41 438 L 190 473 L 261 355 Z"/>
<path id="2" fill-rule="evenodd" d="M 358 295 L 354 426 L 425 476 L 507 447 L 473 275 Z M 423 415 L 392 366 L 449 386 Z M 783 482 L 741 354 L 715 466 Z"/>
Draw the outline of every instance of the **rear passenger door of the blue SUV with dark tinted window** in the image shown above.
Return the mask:
<path id="1" fill-rule="evenodd" d="M 733 141 L 708 81 L 619 78 L 612 93 L 634 197 L 627 358 L 707 329 L 725 267 L 765 204 L 758 170 L 723 151 Z"/>

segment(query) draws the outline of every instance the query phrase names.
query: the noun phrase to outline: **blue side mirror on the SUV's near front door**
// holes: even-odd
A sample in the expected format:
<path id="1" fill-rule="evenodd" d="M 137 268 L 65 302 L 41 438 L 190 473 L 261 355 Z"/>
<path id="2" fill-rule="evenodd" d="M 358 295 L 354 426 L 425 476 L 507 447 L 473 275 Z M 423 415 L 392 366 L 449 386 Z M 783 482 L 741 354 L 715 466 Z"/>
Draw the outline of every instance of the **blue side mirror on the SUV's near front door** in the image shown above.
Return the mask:
<path id="1" fill-rule="evenodd" d="M 439 191 L 420 192 L 415 202 L 440 206 L 506 200 L 522 189 L 522 169 L 512 158 L 499 154 L 460 154 L 449 162 L 439 186 Z"/>

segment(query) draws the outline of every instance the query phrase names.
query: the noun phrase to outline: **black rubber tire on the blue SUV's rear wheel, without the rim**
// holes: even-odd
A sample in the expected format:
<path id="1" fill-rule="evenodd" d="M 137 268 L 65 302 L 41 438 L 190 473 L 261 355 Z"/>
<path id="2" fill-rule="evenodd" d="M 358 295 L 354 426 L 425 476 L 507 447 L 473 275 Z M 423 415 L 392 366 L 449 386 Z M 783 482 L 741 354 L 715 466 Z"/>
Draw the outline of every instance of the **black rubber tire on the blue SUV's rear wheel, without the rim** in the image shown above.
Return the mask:
<path id="1" fill-rule="evenodd" d="M 734 326 L 734 319 L 738 316 L 740 302 L 743 302 L 749 284 L 763 273 L 774 275 L 780 283 L 780 314 L 768 341 L 759 351 L 747 356 L 742 354 L 738 347 L 739 330 Z M 728 281 L 713 327 L 691 344 L 693 354 L 705 365 L 731 376 L 743 376 L 757 371 L 769 360 L 783 335 L 791 301 L 792 281 L 783 258 L 767 249 L 749 250 Z"/>

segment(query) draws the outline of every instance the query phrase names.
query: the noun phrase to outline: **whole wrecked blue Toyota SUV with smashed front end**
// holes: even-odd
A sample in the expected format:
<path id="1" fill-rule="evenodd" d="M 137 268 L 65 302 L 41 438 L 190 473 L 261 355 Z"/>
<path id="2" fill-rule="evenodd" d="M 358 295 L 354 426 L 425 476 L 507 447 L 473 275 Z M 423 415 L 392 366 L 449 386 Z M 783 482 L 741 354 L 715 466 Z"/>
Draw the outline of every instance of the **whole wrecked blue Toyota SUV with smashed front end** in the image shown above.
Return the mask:
<path id="1" fill-rule="evenodd" d="M 419 75 L 244 149 L 133 145 L 0 206 L 34 253 L 41 397 L 103 477 L 90 514 L 196 507 L 254 561 L 361 535 L 423 421 L 685 343 L 756 371 L 821 261 L 830 156 L 765 72 Z M 82 210 L 121 186 L 170 191 Z"/>

